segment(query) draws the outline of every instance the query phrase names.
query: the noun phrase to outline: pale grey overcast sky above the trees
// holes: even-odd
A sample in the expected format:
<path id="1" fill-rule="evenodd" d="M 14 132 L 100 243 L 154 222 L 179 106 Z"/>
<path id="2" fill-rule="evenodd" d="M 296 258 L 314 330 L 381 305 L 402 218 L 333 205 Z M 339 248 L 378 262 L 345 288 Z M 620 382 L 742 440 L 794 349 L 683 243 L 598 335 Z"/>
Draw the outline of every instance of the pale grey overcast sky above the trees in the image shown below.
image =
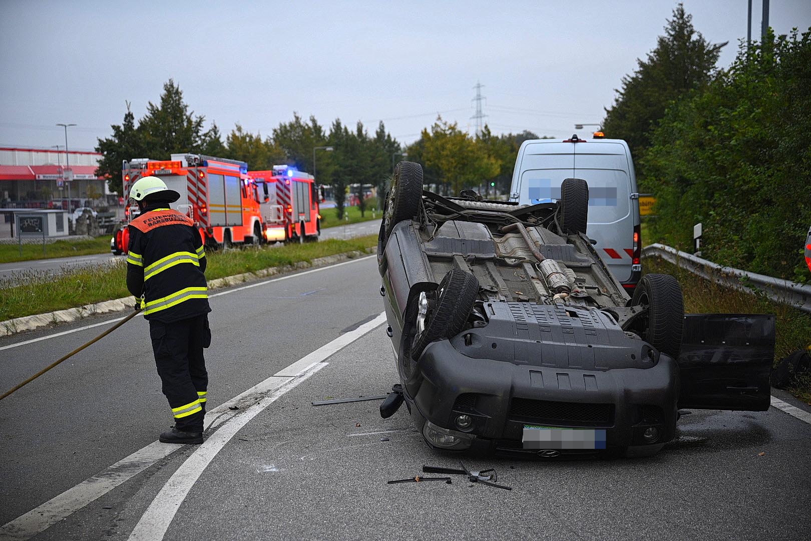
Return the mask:
<path id="1" fill-rule="evenodd" d="M 762 0 L 753 0 L 753 37 Z M 41 2 L 0 0 L 0 145 L 92 149 L 174 78 L 223 135 L 269 135 L 297 111 L 327 126 L 383 120 L 416 140 L 437 112 L 475 130 L 474 85 L 496 133 L 572 135 L 600 122 L 676 2 Z M 712 42 L 746 36 L 746 0 L 685 0 Z M 778 34 L 811 26 L 811 0 L 771 0 Z M 578 131 L 585 136 L 589 132 Z"/>

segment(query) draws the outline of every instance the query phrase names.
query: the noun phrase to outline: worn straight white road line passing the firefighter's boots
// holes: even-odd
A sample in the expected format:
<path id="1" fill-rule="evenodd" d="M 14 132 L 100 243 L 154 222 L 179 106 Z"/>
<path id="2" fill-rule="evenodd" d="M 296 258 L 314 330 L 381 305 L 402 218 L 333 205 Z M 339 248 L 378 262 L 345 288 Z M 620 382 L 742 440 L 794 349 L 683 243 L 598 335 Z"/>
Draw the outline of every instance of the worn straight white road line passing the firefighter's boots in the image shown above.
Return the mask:
<path id="1" fill-rule="evenodd" d="M 230 421 L 230 419 L 240 416 L 242 411 L 230 410 L 230 407 L 237 406 L 241 401 L 250 397 L 255 399 L 255 403 L 259 403 L 264 397 L 267 397 L 268 392 L 281 389 L 286 384 L 294 382 L 296 377 L 303 376 L 307 370 L 311 369 L 316 364 L 323 363 L 324 360 L 328 359 L 328 357 L 335 354 L 338 350 L 349 346 L 353 341 L 370 333 L 372 330 L 379 327 L 380 324 L 383 324 L 385 320 L 386 315 L 385 312 L 383 312 L 375 317 L 374 320 L 355 328 L 349 333 L 341 334 L 341 336 L 335 338 L 335 340 L 324 344 L 324 346 L 306 355 L 303 359 L 299 359 L 289 367 L 282 368 L 281 371 L 278 371 L 259 384 L 254 385 L 251 389 L 247 389 L 245 392 L 238 394 L 236 397 L 231 398 L 229 401 L 217 406 L 213 410 L 206 412 L 205 428 L 208 429 L 209 427 L 222 425 Z M 336 347 L 337 345 L 340 345 L 340 347 Z M 302 367 L 301 364 L 304 359 L 308 359 L 306 367 Z M 281 376 L 283 373 L 290 373 L 290 368 L 293 366 L 299 367 L 298 371 L 294 371 L 293 376 Z M 275 398 L 273 400 L 275 400 Z M 250 408 L 248 409 L 250 410 Z M 182 445 L 162 444 L 159 441 L 148 444 L 144 449 L 135 451 L 135 453 L 132 453 L 129 457 L 123 458 L 114 465 L 109 466 L 106 470 L 85 479 L 75 487 L 67 489 L 67 491 L 62 492 L 62 494 L 36 507 L 36 509 L 28 511 L 28 513 L 24 513 L 10 522 L 6 522 L 6 524 L 0 526 L 0 539 L 4 541 L 24 541 L 47 530 L 50 526 L 53 526 L 63 518 L 82 509 L 85 505 L 104 496 L 107 492 L 118 487 L 118 485 L 127 482 L 135 475 L 146 470 L 149 466 L 152 466 L 155 462 L 168 457 L 169 454 L 174 453 L 174 451 L 178 449 L 182 449 Z"/>

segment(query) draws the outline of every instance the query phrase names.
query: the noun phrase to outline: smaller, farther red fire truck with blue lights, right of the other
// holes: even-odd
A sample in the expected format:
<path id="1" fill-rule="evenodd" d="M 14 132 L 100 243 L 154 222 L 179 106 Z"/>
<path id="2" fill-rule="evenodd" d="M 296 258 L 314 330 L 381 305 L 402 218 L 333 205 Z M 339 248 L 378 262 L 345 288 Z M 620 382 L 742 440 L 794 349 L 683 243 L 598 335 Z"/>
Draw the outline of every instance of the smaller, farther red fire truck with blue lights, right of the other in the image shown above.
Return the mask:
<path id="1" fill-rule="evenodd" d="M 251 171 L 248 175 L 259 193 L 265 240 L 318 240 L 321 217 L 315 177 L 288 165 L 273 165 L 272 170 Z"/>

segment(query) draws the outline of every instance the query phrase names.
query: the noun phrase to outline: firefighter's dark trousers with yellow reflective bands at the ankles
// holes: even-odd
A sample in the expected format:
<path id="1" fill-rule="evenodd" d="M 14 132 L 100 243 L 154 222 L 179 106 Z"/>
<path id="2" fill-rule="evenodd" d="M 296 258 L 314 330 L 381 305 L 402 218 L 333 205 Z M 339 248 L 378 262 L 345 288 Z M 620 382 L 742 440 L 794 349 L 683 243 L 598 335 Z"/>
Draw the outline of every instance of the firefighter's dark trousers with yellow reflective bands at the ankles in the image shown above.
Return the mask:
<path id="1" fill-rule="evenodd" d="M 150 320 L 149 336 L 174 426 L 185 432 L 203 432 L 208 393 L 203 348 L 211 341 L 208 314 L 172 323 Z"/>

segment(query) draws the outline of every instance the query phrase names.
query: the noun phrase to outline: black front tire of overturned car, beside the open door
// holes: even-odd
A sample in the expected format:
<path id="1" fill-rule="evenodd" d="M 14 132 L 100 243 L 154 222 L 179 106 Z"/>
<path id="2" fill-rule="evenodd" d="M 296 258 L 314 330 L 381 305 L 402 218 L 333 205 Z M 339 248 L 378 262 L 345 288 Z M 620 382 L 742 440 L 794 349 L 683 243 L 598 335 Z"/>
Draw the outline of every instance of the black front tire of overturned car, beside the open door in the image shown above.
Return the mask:
<path id="1" fill-rule="evenodd" d="M 648 316 L 637 333 L 663 354 L 678 359 L 684 327 L 684 297 L 679 281 L 669 274 L 646 274 L 631 298 L 631 306 L 641 305 L 647 305 Z"/>

